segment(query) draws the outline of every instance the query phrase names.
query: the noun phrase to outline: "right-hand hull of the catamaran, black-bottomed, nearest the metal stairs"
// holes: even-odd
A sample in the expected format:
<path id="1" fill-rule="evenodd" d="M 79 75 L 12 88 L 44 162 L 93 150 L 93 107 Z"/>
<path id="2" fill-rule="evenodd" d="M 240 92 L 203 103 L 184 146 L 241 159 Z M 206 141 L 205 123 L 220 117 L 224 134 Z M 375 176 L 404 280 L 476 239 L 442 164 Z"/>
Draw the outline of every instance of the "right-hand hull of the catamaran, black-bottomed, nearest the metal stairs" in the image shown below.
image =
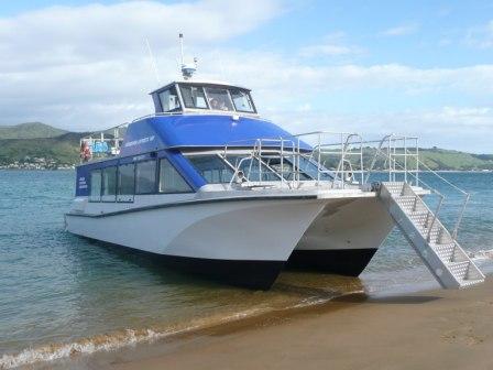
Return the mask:
<path id="1" fill-rule="evenodd" d="M 306 230 L 287 268 L 358 276 L 393 227 L 376 198 L 333 200 Z"/>

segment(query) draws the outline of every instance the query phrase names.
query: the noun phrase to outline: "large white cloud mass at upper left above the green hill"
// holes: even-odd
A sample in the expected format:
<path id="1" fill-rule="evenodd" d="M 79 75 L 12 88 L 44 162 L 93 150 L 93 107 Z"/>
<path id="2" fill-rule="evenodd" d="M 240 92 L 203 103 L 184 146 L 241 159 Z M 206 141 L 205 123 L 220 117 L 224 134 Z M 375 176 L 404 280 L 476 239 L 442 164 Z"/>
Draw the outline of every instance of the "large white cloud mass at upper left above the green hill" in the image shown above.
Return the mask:
<path id="1" fill-rule="evenodd" d="M 0 19 L 0 123 L 43 120 L 87 130 L 147 113 L 161 77 L 176 77 L 177 35 L 186 51 L 220 45 L 282 11 L 277 0 L 156 1 L 52 7 Z M 210 55 L 209 55 L 210 56 Z M 217 59 L 217 57 L 216 57 Z M 58 116 L 59 115 L 59 116 Z"/>

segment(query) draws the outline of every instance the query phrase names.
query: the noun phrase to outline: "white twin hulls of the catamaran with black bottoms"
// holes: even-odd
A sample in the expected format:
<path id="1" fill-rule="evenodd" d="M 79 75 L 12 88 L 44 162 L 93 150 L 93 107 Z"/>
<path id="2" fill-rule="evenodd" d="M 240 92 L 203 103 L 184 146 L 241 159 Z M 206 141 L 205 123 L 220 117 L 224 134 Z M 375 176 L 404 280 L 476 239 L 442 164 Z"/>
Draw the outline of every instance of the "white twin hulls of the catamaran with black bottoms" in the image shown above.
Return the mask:
<path id="1" fill-rule="evenodd" d="M 69 232 L 254 289 L 269 289 L 284 268 L 357 276 L 393 226 L 375 197 L 229 199 L 66 215 Z"/>

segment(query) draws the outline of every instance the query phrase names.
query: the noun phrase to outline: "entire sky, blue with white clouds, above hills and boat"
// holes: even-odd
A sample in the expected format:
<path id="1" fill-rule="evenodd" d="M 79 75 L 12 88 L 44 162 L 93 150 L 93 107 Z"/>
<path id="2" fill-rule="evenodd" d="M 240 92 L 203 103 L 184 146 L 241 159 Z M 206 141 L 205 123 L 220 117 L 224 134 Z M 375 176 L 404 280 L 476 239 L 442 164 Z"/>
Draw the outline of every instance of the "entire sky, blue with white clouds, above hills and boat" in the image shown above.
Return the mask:
<path id="1" fill-rule="evenodd" d="M 153 112 L 180 32 L 197 78 L 251 88 L 293 133 L 493 153 L 493 2 L 474 0 L 0 0 L 0 124 L 92 131 Z"/>

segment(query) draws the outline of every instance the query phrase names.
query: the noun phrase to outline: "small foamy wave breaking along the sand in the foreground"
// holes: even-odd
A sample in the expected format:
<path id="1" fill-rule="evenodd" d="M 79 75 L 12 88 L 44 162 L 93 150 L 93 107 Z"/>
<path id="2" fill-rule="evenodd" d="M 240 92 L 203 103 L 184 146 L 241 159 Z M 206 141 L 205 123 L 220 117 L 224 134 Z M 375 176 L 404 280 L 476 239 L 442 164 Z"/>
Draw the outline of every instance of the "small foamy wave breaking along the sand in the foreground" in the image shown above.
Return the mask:
<path id="1" fill-rule="evenodd" d="M 188 322 L 187 326 L 174 325 L 167 327 L 155 327 L 145 329 L 124 329 L 112 334 L 97 335 L 84 338 L 69 344 L 51 344 L 37 348 L 26 348 L 18 353 L 3 355 L 0 357 L 0 369 L 12 369 L 20 366 L 33 364 L 35 362 L 46 362 L 69 358 L 79 355 L 89 355 L 98 351 L 111 351 L 127 346 L 133 346 L 140 342 L 152 342 L 157 339 L 176 336 L 179 334 L 193 333 L 200 329 L 207 329 L 220 324 L 232 323 L 243 318 L 250 318 L 266 314 L 270 312 L 287 311 L 292 308 L 308 307 L 324 304 L 333 298 L 330 297 L 307 297 L 297 304 L 284 308 L 273 308 L 271 306 L 256 307 L 229 315 L 218 314 L 207 318 Z"/>

